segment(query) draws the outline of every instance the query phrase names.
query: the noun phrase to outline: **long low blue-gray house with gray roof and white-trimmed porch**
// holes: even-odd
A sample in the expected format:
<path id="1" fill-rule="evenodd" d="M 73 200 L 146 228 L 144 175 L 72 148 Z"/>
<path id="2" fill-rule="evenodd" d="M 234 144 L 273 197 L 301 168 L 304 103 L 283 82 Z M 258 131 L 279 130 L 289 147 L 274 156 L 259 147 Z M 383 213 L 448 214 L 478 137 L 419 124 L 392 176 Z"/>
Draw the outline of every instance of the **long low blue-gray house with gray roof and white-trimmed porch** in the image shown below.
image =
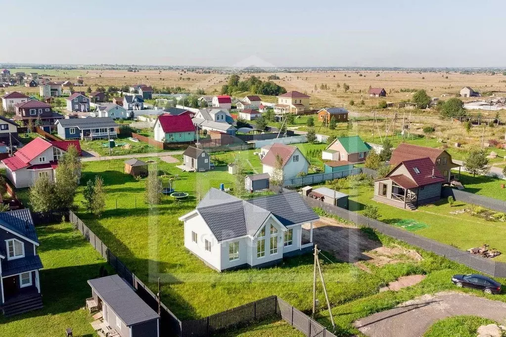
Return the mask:
<path id="1" fill-rule="evenodd" d="M 117 138 L 118 124 L 111 117 L 60 119 L 56 122 L 58 136 L 62 139 Z"/>

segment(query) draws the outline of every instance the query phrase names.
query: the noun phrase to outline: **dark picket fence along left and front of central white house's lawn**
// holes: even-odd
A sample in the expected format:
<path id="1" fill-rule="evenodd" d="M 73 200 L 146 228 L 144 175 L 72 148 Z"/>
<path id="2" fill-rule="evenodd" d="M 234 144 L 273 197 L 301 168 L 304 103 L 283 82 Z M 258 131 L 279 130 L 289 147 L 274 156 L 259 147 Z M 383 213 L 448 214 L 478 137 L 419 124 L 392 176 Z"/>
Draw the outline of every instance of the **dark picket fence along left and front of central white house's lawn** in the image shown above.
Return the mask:
<path id="1" fill-rule="evenodd" d="M 114 268 L 117 274 L 136 289 L 137 295 L 153 310 L 158 311 L 158 299 L 149 287 L 130 271 L 74 212 L 67 211 L 65 215 L 74 225 L 74 228 L 86 238 L 93 248 Z M 60 216 L 61 220 L 62 213 L 60 212 L 55 212 L 53 218 L 57 218 L 58 216 Z M 51 216 L 34 217 L 35 219 L 39 221 L 38 225 L 42 225 L 45 224 L 44 221 L 50 221 Z M 160 302 L 160 336 L 209 336 L 225 330 L 237 329 L 258 323 L 270 317 L 285 320 L 307 336 L 335 337 L 324 326 L 276 295 L 246 303 L 204 318 L 186 321 L 179 320 L 170 309 Z"/>

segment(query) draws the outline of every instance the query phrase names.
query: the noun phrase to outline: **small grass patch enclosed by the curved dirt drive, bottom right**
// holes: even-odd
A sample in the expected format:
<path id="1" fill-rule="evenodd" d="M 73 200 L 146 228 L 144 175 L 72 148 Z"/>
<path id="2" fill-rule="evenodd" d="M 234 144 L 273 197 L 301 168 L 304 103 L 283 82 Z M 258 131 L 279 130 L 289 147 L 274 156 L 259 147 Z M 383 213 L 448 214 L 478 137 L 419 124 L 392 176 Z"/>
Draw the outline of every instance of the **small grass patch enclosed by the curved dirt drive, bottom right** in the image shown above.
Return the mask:
<path id="1" fill-rule="evenodd" d="M 481 325 L 497 324 L 490 319 L 477 316 L 453 316 L 432 325 L 424 337 L 476 337 Z"/>

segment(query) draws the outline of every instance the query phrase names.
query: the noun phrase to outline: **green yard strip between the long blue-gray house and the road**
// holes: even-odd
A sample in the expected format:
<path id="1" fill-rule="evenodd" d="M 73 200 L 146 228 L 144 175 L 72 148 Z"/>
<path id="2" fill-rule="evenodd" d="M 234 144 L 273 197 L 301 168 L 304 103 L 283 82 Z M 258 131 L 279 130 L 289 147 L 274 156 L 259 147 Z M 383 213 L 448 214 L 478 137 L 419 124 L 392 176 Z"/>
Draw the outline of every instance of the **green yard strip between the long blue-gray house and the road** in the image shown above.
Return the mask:
<path id="1" fill-rule="evenodd" d="M 128 138 L 117 138 L 115 142 L 116 147 L 111 149 L 111 156 L 161 152 L 160 149 L 142 141 L 134 142 Z M 100 156 L 109 156 L 107 139 L 81 140 L 81 149 L 97 152 Z"/>

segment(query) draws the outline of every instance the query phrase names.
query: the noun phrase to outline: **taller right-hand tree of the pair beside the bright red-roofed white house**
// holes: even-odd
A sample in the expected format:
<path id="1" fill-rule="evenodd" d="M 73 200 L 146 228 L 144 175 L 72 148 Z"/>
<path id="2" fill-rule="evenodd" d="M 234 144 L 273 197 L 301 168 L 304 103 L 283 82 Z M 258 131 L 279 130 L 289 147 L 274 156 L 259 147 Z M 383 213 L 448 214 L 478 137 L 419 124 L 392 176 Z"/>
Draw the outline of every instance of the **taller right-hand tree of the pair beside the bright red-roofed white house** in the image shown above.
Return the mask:
<path id="1" fill-rule="evenodd" d="M 74 203 L 80 175 L 81 162 L 79 154 L 74 146 L 70 146 L 58 161 L 55 173 L 55 192 L 58 208 L 68 209 Z"/>

